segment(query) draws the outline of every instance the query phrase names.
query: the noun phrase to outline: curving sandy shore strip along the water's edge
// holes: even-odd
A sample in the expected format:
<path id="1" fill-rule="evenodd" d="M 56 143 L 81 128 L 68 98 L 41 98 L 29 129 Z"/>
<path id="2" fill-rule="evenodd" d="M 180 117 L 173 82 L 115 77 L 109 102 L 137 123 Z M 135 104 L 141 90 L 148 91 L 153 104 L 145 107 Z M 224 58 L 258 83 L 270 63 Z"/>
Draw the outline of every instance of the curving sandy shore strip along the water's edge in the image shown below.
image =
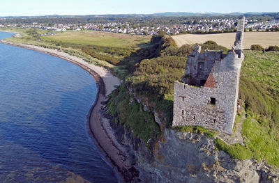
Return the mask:
<path id="1" fill-rule="evenodd" d="M 93 140 L 96 141 L 98 148 L 101 152 L 103 152 L 103 154 L 105 154 L 107 160 L 109 160 L 119 173 L 121 173 L 123 180 L 125 182 L 134 180 L 138 176 L 137 170 L 135 170 L 133 166 L 130 166 L 125 150 L 122 145 L 116 141 L 108 120 L 103 118 L 100 113 L 100 109 L 103 106 L 103 100 L 105 100 L 105 97 L 107 97 L 107 95 L 114 90 L 114 86 L 118 86 L 121 81 L 117 77 L 112 76 L 112 74 L 110 74 L 110 72 L 105 68 L 91 65 L 82 58 L 70 56 L 69 54 L 61 51 L 33 45 L 16 44 L 6 40 L 0 40 L 0 42 L 6 45 L 32 49 L 63 58 L 66 61 L 70 61 L 71 63 L 75 63 L 76 65 L 82 67 L 94 77 L 98 86 L 98 94 L 88 115 L 89 134 L 91 134 Z"/>

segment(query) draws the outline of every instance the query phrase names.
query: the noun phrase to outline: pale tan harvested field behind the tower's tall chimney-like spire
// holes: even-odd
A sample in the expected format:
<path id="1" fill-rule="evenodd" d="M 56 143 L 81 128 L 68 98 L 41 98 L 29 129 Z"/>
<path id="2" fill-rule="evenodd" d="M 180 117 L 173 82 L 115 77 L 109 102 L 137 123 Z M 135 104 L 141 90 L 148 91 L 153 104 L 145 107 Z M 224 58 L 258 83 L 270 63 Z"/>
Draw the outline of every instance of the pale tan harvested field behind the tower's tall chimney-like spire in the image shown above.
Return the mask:
<path id="1" fill-rule="evenodd" d="M 174 35 L 172 38 L 178 47 L 213 40 L 218 45 L 231 48 L 234 45 L 235 35 L 236 33 L 181 34 Z M 250 49 L 251 45 L 262 45 L 264 48 L 270 45 L 279 46 L 279 32 L 246 32 L 244 33 L 244 49 Z"/>

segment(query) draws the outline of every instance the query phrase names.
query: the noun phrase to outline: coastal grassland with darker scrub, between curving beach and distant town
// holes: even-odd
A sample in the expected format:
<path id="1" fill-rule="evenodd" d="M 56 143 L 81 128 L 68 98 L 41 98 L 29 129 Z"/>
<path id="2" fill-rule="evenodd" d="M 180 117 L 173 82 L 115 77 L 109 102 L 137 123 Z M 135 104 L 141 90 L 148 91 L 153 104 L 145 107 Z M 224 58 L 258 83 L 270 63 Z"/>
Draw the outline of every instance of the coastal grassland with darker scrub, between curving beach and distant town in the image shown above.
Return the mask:
<path id="1" fill-rule="evenodd" d="M 1 30 L 1 29 L 0 29 Z M 37 45 L 50 49 L 60 49 L 84 60 L 103 67 L 114 67 L 114 73 L 123 77 L 125 71 L 119 62 L 125 60 L 138 49 L 148 47 L 151 36 L 107 33 L 100 31 L 54 32 L 40 29 L 9 28 L 3 31 L 20 33 L 21 37 L 7 40 L 27 45 Z M 43 35 L 43 33 L 56 33 Z"/>

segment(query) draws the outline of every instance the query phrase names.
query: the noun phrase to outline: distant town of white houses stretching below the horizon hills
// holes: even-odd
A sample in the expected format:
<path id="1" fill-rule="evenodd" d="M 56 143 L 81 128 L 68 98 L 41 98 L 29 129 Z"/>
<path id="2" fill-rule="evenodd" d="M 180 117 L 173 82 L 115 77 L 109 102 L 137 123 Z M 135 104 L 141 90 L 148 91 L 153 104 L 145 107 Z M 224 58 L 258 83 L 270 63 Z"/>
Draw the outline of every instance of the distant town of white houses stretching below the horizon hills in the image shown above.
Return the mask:
<path id="1" fill-rule="evenodd" d="M 2 20 L 4 20 L 2 18 Z M 22 27 L 37 28 L 50 31 L 106 31 L 112 33 L 128 33 L 136 35 L 154 35 L 159 31 L 164 31 L 168 35 L 179 33 L 227 33 L 236 32 L 236 22 L 238 19 L 232 18 L 212 18 L 186 21 L 184 24 L 156 24 L 153 26 L 141 26 L 129 22 L 103 22 L 84 24 L 40 24 L 32 22 L 29 24 L 1 24 L 1 27 Z M 279 20 L 271 19 L 259 21 L 258 19 L 246 19 L 245 31 L 279 31 Z"/>

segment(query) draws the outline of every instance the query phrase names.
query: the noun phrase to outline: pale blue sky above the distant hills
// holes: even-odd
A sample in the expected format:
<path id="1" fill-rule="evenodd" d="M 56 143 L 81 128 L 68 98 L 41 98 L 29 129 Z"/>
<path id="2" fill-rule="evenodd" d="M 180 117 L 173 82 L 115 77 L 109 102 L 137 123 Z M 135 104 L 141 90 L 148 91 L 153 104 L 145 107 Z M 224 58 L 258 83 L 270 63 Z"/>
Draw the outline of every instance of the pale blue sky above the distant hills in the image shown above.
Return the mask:
<path id="1" fill-rule="evenodd" d="M 0 16 L 278 12 L 278 7 L 278 0 L 8 0 Z"/>

